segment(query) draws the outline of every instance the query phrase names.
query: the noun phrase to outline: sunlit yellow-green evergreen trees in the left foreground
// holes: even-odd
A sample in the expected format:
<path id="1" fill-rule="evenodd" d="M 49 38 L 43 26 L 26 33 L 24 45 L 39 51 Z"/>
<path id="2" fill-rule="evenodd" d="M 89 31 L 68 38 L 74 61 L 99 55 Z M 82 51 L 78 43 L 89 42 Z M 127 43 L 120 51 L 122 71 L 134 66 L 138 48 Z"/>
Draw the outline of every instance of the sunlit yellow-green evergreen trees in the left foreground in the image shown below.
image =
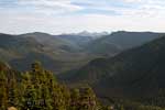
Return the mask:
<path id="1" fill-rule="evenodd" d="M 0 64 L 0 110 L 107 110 L 88 86 L 68 88 L 40 62 L 20 73 Z M 105 109 L 103 109 L 105 108 Z"/>

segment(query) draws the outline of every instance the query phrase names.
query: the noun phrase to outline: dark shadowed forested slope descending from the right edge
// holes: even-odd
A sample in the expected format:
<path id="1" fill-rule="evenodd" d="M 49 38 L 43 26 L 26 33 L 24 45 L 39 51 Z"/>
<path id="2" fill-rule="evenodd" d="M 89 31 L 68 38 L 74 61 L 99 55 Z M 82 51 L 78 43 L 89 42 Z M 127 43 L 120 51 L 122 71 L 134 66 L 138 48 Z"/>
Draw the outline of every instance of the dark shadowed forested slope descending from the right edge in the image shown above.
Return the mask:
<path id="1" fill-rule="evenodd" d="M 88 82 L 98 95 L 156 96 L 165 89 L 165 36 L 125 51 L 112 58 L 98 58 L 65 76 L 69 82 Z"/>

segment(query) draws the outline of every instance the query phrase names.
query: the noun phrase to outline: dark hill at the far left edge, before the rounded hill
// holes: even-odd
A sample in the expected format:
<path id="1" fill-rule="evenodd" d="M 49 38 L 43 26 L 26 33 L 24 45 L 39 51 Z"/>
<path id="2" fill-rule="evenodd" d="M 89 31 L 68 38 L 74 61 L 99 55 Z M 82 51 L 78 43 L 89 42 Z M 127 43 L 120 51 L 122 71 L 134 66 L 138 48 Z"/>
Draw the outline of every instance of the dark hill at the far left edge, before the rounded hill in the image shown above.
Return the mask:
<path id="1" fill-rule="evenodd" d="M 37 52 L 42 45 L 34 38 L 22 38 L 15 35 L 0 34 L 0 51 L 2 59 L 12 59 L 29 52 Z M 8 54 L 7 54 L 8 53 Z M 7 55 L 7 56 L 6 56 Z"/>

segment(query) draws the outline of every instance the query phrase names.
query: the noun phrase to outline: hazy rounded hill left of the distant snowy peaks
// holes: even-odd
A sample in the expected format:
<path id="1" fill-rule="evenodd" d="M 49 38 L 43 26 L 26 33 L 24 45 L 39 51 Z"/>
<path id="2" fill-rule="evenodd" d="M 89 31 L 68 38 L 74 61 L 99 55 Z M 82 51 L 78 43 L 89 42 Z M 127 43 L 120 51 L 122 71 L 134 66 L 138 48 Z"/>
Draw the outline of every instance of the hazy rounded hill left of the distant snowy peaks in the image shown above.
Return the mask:
<path id="1" fill-rule="evenodd" d="M 34 32 L 20 35 L 21 37 L 35 38 L 38 43 L 50 46 L 56 52 L 75 52 L 79 46 L 76 46 L 72 41 L 66 40 L 66 35 L 51 35 L 47 33 Z M 63 37 L 64 36 L 64 37 Z M 48 48 L 47 48 L 48 50 Z"/>

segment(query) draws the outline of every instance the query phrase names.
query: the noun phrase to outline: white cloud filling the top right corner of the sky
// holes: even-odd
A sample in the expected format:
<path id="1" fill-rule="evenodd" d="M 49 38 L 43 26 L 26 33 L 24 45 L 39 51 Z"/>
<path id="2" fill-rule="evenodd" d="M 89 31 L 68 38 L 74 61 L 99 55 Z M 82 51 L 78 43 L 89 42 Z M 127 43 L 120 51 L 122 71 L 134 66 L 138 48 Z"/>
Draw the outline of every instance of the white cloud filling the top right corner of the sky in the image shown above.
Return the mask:
<path id="1" fill-rule="evenodd" d="M 122 9 L 120 12 L 123 15 L 130 16 L 165 16 L 165 1 L 164 0 L 120 0 L 125 3 L 133 3 L 138 8 Z"/>

